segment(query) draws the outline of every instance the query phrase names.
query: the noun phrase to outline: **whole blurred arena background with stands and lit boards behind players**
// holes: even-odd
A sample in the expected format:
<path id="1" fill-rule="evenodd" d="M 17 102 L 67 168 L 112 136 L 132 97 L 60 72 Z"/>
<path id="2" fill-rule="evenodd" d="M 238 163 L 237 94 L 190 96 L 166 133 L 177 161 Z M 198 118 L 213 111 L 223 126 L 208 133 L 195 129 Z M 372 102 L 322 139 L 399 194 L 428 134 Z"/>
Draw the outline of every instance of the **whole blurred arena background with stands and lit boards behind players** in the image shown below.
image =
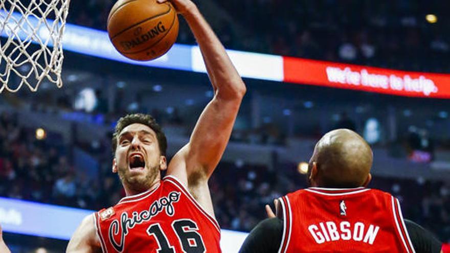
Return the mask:
<path id="1" fill-rule="evenodd" d="M 110 172 L 118 118 L 151 113 L 171 156 L 213 96 L 184 20 L 166 56 L 137 64 L 104 31 L 113 4 L 72 1 L 62 88 L 0 95 L 0 223 L 13 252 L 64 251 L 82 217 L 124 196 Z M 264 204 L 306 187 L 314 143 L 342 127 L 372 145 L 370 187 L 450 240 L 449 2 L 197 4 L 248 87 L 210 180 L 224 252 L 237 252 Z"/>

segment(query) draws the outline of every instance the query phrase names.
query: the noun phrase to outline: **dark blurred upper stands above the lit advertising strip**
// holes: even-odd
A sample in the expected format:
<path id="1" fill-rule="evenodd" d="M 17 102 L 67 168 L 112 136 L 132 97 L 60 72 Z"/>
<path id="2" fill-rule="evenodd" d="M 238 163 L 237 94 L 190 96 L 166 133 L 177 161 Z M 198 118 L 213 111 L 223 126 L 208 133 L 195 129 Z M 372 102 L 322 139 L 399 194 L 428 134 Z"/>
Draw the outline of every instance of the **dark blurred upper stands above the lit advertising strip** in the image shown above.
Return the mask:
<path id="1" fill-rule="evenodd" d="M 204 14 L 230 49 L 410 71 L 450 70 L 445 61 L 450 40 L 442 33 L 450 26 L 443 12 L 450 8 L 447 1 L 209 1 L 219 8 L 204 8 Z M 105 30 L 112 5 L 105 0 L 72 5 L 69 22 Z M 203 5 L 198 3 L 200 9 Z M 435 14 L 437 22 L 429 23 L 427 14 Z M 214 20 L 222 16 L 231 18 Z M 178 42 L 195 42 L 183 21 Z"/>

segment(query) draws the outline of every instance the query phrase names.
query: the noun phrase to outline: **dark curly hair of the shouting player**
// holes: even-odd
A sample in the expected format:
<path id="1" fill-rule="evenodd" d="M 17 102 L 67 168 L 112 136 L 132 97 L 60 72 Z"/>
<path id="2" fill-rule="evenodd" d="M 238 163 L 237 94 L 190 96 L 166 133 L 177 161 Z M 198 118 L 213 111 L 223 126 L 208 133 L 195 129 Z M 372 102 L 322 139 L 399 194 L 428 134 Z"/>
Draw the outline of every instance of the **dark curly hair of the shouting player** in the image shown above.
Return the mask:
<path id="1" fill-rule="evenodd" d="M 165 156 L 167 151 L 166 135 L 153 117 L 143 113 L 128 114 L 127 116 L 119 119 L 113 133 L 113 154 L 116 153 L 118 142 L 117 137 L 119 136 L 120 132 L 122 132 L 125 127 L 134 123 L 146 125 L 156 133 L 156 139 L 158 139 L 158 145 L 160 147 L 161 155 Z"/>

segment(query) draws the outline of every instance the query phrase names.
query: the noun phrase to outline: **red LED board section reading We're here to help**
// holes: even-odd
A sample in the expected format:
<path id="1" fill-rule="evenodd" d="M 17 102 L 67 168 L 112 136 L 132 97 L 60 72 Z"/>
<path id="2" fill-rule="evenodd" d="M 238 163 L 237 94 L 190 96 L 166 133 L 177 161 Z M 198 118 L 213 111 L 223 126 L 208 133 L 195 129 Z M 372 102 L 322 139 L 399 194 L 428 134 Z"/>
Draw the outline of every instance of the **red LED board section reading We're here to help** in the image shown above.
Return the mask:
<path id="1" fill-rule="evenodd" d="M 450 98 L 450 75 L 284 57 L 284 80 L 406 97 Z"/>

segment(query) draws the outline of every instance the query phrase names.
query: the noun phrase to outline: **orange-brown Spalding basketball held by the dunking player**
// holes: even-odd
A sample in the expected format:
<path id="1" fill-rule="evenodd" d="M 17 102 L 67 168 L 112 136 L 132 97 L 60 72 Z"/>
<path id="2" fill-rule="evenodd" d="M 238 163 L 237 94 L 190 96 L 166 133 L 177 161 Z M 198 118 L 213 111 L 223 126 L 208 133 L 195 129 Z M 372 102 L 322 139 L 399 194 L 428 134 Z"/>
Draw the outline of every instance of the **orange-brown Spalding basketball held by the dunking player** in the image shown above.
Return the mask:
<path id="1" fill-rule="evenodd" d="M 178 36 L 178 17 L 169 2 L 119 0 L 109 12 L 108 35 L 123 56 L 137 61 L 164 55 Z"/>

